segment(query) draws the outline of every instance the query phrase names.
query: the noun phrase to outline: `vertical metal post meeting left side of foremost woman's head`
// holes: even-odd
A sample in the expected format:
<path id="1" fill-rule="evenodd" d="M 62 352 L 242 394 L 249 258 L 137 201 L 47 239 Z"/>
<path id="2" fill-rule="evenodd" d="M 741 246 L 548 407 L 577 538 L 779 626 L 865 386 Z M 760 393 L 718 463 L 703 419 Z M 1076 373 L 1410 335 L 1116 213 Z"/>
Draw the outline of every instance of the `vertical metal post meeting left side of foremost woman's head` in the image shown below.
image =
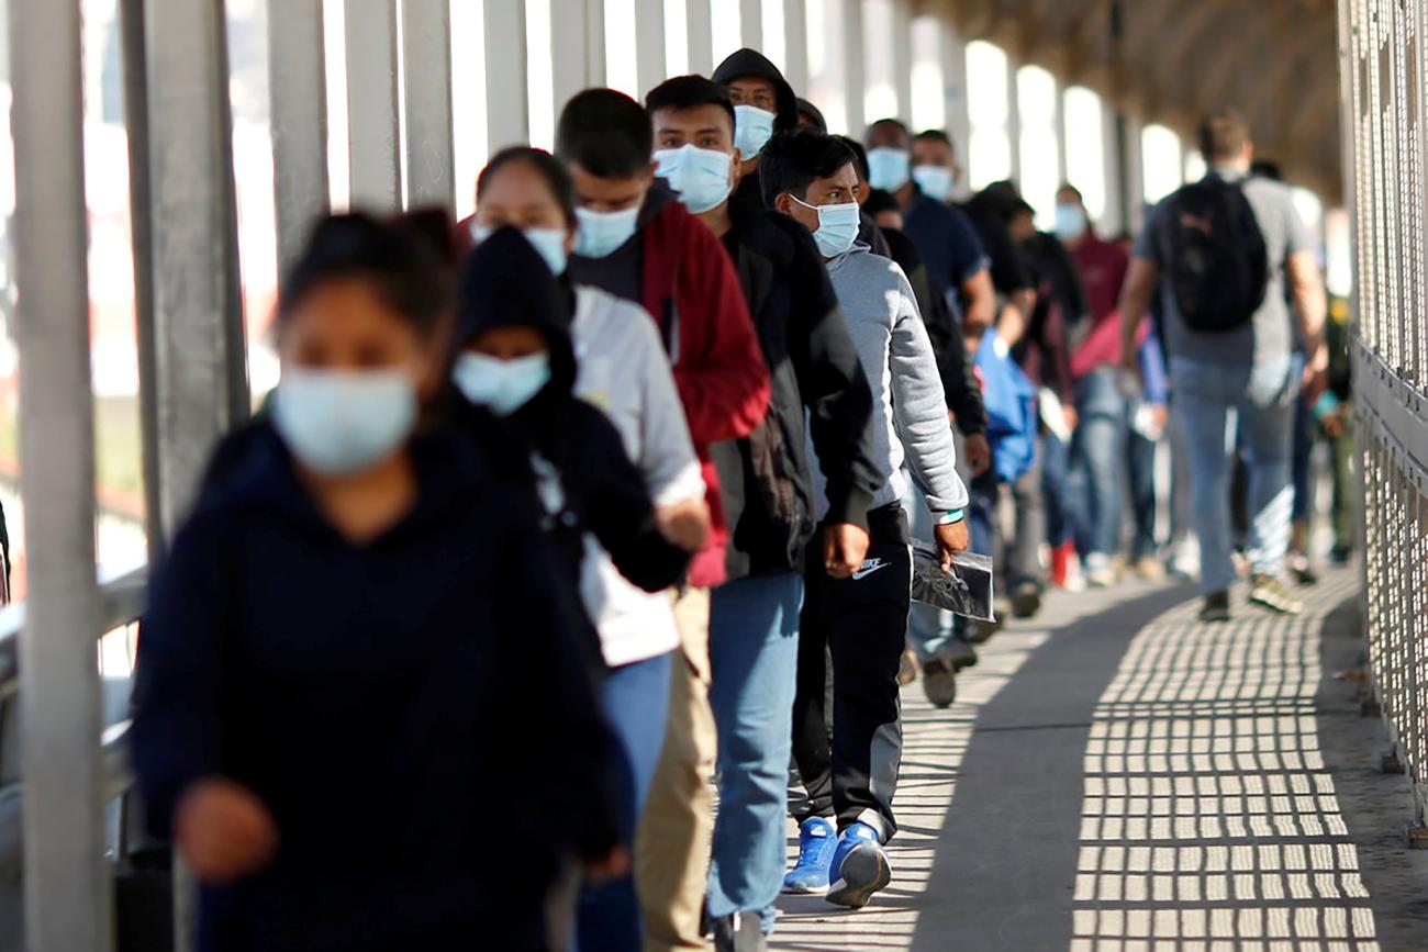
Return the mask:
<path id="1" fill-rule="evenodd" d="M 268 4 L 268 110 L 278 273 L 328 208 L 327 71 L 321 3 Z"/>

